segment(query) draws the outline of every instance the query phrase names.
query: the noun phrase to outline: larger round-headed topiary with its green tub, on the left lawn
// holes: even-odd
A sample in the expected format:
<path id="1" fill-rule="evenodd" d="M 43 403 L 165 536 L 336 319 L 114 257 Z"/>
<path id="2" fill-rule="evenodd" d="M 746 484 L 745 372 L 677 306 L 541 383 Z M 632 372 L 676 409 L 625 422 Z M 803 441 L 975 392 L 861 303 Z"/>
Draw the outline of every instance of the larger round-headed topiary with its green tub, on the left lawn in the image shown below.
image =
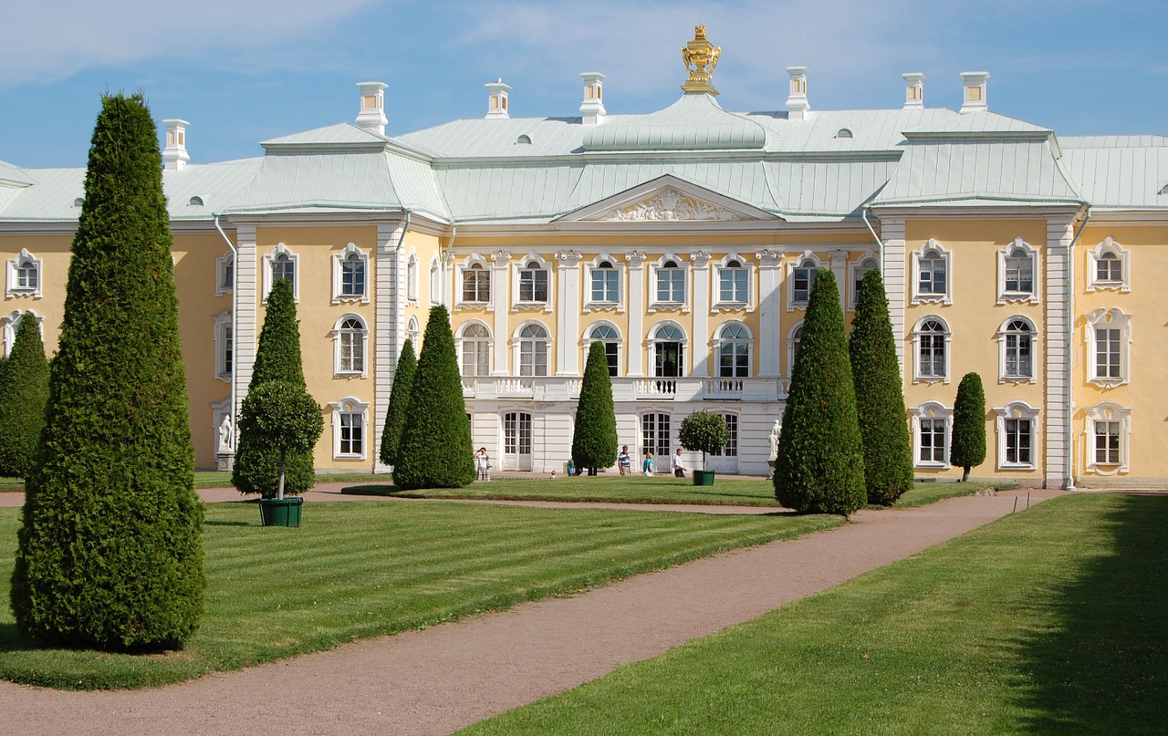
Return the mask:
<path id="1" fill-rule="evenodd" d="M 279 482 L 274 499 L 259 500 L 265 527 L 299 527 L 303 497 L 284 498 L 284 475 L 290 450 L 312 450 L 325 429 L 320 404 L 290 381 L 266 381 L 248 391 L 239 412 L 239 429 L 258 446 L 278 451 Z"/>

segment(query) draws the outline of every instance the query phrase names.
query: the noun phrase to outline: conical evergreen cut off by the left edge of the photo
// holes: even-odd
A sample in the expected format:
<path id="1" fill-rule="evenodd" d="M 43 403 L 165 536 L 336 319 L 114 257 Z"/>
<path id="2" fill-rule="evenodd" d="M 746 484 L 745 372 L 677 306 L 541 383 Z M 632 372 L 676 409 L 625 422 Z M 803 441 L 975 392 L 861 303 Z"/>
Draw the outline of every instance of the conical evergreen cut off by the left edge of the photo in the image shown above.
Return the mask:
<path id="1" fill-rule="evenodd" d="M 49 401 L 49 361 L 36 318 L 16 327 L 12 355 L 0 375 L 0 475 L 25 478 L 33 470 Z"/>

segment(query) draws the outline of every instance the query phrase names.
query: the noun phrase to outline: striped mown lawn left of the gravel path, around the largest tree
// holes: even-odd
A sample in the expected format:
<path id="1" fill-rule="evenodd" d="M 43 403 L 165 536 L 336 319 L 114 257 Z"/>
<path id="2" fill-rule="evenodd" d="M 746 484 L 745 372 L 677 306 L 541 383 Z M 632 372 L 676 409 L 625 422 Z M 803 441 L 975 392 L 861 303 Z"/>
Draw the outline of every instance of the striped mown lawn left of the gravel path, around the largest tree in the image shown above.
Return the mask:
<path id="1" fill-rule="evenodd" d="M 207 505 L 207 606 L 182 652 L 41 648 L 7 605 L 19 509 L 0 509 L 0 678 L 70 689 L 155 686 L 332 648 L 793 537 L 839 518 L 310 504 L 299 529 L 255 504 Z"/>

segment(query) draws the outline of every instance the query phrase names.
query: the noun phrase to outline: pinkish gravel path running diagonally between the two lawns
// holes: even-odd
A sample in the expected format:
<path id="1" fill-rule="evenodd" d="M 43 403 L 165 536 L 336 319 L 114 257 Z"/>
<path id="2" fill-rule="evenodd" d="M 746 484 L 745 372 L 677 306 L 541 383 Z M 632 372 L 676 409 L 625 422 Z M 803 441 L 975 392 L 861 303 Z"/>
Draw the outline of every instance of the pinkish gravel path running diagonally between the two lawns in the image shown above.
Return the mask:
<path id="1" fill-rule="evenodd" d="M 326 487 L 310 502 L 314 494 L 348 498 Z M 0 734 L 450 734 L 959 536 L 1016 502 L 1024 508 L 1027 495 L 1035 504 L 1058 494 L 1023 489 L 1021 498 L 861 511 L 836 529 L 576 597 L 153 690 L 67 693 L 0 682 Z"/>

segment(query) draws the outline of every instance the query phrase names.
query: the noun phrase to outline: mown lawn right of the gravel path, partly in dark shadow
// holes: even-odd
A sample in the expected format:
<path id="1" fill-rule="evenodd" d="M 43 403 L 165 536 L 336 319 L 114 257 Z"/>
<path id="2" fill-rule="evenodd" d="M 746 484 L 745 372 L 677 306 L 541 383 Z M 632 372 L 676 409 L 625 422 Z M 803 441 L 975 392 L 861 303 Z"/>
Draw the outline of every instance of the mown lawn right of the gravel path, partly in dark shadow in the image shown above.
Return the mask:
<path id="1" fill-rule="evenodd" d="M 1166 528 L 1062 497 L 464 732 L 1163 734 Z"/>

